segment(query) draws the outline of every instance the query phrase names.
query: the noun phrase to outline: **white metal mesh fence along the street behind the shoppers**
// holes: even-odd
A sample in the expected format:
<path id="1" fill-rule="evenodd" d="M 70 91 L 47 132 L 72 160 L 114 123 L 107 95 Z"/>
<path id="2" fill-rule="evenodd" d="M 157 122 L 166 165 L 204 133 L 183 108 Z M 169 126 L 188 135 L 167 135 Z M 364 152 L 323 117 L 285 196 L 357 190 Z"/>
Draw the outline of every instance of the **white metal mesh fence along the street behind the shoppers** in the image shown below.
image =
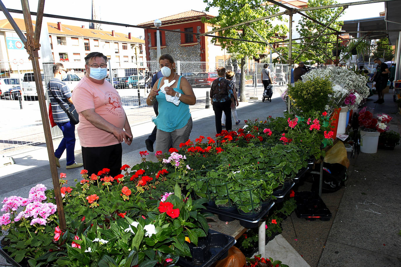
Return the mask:
<path id="1" fill-rule="evenodd" d="M 11 71 L 9 66 L 13 62 L 0 62 L 0 151 L 2 153 L 10 150 L 34 150 L 45 146 L 45 137 L 43 134 L 42 118 L 36 96 L 36 87 L 34 81 L 29 79 L 32 70 Z M 54 62 L 44 62 L 41 66 L 43 73 L 43 85 L 46 89 L 47 82 L 53 78 L 51 66 Z M 238 64 L 227 62 L 176 62 L 176 71 L 185 76 L 191 83 L 196 96 L 196 104 L 190 106 L 190 109 L 203 109 L 206 107 L 207 91 L 210 90 L 211 82 L 217 78 L 216 70 L 219 66 L 224 66 L 227 70 L 233 70 L 237 88 L 240 81 L 240 67 Z M 18 68 L 18 66 L 13 66 Z M 152 74 L 159 71 L 159 63 L 156 61 L 147 62 L 147 67 Z M 273 92 L 282 90 L 286 86 L 288 66 L 284 64 L 270 64 L 271 77 L 273 79 Z M 245 95 L 247 97 L 260 96 L 263 93 L 261 83 L 261 71 L 263 63 L 252 64 L 245 71 Z M 73 73 L 71 78 L 65 80 L 70 89 L 77 84 L 74 78 L 77 75 L 83 76 L 83 73 Z M 73 74 L 73 75 L 72 75 Z M 139 74 L 139 77 L 138 77 Z M 122 105 L 131 125 L 150 121 L 154 115 L 153 107 L 146 104 L 149 88 L 144 86 L 140 80 L 144 78 L 144 67 L 139 69 L 121 70 L 112 68 L 111 77 L 113 77 L 114 86 L 117 88 Z M 7 81 L 4 81 L 6 79 Z M 9 79 L 14 79 L 10 82 Z M 8 84 L 12 83 L 14 84 Z M 19 82 L 19 84 L 18 84 Z M 132 86 L 129 84 L 132 83 Z M 28 88 L 29 87 L 29 88 Z M 132 88 L 130 88 L 132 87 Z M 31 90 L 28 90 L 31 89 Z M 8 91 L 10 91 L 8 93 Z M 21 92 L 21 94 L 16 93 Z M 18 95 L 21 97 L 18 98 Z M 48 106 L 47 106 L 48 108 Z M 52 128 L 53 139 L 61 138 L 62 132 L 56 126 Z M 0 153 L 0 155 L 2 154 Z"/>

